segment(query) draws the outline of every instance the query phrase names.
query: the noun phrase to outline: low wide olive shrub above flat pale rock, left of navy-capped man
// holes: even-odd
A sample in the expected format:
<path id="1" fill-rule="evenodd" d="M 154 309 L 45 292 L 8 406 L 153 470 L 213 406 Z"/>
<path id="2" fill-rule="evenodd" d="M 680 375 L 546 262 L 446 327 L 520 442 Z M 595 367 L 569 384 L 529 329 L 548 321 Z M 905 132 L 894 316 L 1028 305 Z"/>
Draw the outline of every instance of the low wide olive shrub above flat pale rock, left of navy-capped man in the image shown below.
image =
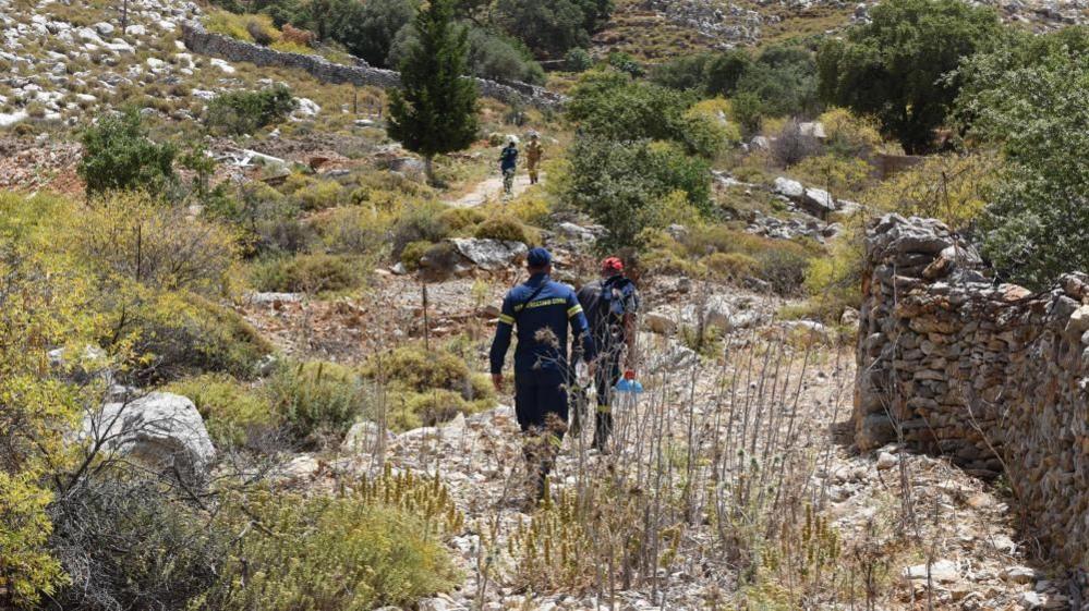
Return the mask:
<path id="1" fill-rule="evenodd" d="M 318 253 L 267 259 L 252 279 L 258 291 L 317 294 L 360 288 L 364 270 L 353 257 Z"/>

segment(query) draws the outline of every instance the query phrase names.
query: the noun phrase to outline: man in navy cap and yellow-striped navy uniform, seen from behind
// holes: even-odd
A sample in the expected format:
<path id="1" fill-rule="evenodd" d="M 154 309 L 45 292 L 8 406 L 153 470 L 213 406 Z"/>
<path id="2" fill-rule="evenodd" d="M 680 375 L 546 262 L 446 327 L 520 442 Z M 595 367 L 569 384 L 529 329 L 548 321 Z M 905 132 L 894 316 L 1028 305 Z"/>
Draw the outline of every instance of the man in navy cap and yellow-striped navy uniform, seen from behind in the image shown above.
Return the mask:
<path id="1" fill-rule="evenodd" d="M 492 342 L 492 382 L 503 390 L 503 364 L 510 338 L 518 329 L 515 349 L 515 413 L 529 437 L 525 457 L 535 475 L 536 497 L 544 494 L 544 480 L 552 469 L 554 448 L 567 423 L 567 328 L 582 339 L 583 358 L 592 363 L 594 342 L 574 291 L 553 282 L 552 255 L 533 248 L 525 258 L 530 279 L 503 300 L 499 326 Z"/>

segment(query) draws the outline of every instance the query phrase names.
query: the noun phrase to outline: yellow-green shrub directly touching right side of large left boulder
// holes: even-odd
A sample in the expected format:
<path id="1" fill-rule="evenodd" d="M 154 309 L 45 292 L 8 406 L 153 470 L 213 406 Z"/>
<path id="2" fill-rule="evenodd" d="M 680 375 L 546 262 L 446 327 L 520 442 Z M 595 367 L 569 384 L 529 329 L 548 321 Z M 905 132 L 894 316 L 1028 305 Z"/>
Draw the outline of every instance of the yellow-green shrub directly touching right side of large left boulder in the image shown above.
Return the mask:
<path id="1" fill-rule="evenodd" d="M 183 378 L 165 390 L 186 396 L 196 405 L 219 448 L 254 447 L 281 424 L 265 395 L 229 376 Z"/>

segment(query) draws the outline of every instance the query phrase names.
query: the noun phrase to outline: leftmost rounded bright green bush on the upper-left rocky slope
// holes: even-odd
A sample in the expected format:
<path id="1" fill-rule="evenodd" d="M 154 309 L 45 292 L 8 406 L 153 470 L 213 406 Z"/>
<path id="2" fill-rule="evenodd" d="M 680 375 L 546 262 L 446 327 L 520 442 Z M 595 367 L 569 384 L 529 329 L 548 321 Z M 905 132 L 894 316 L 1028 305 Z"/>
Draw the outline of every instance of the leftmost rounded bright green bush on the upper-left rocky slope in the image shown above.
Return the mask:
<path id="1" fill-rule="evenodd" d="M 135 109 L 99 115 L 83 133 L 77 171 L 88 194 L 142 188 L 160 192 L 174 181 L 174 148 L 157 144 Z"/>

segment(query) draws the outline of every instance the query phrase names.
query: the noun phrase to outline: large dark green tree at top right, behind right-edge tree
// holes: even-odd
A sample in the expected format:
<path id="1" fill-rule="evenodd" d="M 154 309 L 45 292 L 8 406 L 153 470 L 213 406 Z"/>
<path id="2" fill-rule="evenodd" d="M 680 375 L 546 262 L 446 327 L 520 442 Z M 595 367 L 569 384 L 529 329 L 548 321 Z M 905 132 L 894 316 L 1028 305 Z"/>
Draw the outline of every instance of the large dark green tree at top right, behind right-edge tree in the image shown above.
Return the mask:
<path id="1" fill-rule="evenodd" d="M 1002 25 L 993 10 L 960 0 L 888 0 L 872 16 L 821 48 L 820 95 L 876 115 L 908 152 L 925 151 L 959 89 L 943 76 L 1001 38 Z"/>

